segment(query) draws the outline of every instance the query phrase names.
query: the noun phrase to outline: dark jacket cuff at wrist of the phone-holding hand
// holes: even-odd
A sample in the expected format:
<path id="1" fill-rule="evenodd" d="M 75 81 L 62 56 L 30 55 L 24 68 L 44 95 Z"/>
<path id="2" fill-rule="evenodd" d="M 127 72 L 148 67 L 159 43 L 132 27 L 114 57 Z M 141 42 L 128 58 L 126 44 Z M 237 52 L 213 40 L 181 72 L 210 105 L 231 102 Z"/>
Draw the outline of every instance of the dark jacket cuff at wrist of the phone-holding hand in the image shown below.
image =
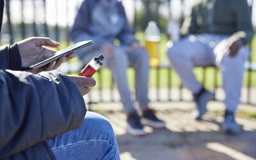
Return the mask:
<path id="1" fill-rule="evenodd" d="M 21 58 L 17 44 L 0 47 L 0 69 L 20 70 Z"/>

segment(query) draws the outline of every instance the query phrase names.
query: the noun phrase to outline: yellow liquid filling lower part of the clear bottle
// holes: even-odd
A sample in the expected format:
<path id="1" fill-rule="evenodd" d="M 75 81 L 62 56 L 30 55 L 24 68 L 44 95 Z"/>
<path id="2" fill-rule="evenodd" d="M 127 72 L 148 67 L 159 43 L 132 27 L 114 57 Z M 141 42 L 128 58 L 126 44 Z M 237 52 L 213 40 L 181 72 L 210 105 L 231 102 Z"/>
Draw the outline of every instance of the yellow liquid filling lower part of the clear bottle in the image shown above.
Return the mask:
<path id="1" fill-rule="evenodd" d="M 159 42 L 152 42 L 152 41 L 146 40 L 146 48 L 150 56 L 149 64 L 151 67 L 158 67 L 159 65 L 158 45 L 159 45 Z"/>

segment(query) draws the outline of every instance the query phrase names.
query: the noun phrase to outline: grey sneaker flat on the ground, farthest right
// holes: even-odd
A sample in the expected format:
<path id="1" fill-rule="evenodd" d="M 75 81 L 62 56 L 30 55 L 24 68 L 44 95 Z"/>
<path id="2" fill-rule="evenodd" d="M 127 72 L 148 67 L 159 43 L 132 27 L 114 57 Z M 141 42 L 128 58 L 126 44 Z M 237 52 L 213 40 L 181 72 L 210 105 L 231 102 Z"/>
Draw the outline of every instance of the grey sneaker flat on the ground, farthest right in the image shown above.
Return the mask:
<path id="1" fill-rule="evenodd" d="M 243 131 L 243 126 L 236 123 L 233 112 L 226 111 L 225 120 L 221 125 L 221 129 L 226 134 L 237 135 Z"/>

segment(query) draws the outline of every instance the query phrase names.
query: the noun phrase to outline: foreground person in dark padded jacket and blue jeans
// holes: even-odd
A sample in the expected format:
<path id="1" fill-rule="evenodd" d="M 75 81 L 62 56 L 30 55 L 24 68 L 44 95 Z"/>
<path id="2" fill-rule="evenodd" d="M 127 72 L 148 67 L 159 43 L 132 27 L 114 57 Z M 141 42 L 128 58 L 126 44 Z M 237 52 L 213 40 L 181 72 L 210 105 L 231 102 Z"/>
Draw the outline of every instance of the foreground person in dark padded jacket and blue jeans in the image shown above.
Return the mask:
<path id="1" fill-rule="evenodd" d="M 0 1 L 2 18 L 3 11 Z M 0 47 L 0 159 L 120 159 L 111 124 L 86 113 L 82 95 L 95 80 L 41 72 L 58 68 L 75 53 L 32 73 L 19 71 L 56 52 L 44 46 L 59 45 L 33 37 Z"/>

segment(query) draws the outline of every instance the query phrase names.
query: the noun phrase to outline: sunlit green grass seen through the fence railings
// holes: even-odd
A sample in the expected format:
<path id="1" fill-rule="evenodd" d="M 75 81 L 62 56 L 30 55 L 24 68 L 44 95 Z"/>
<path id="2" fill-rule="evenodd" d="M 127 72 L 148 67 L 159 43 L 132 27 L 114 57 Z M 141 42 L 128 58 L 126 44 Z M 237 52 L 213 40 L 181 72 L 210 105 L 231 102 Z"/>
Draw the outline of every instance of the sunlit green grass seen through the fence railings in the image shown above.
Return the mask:
<path id="1" fill-rule="evenodd" d="M 140 44 L 142 46 L 145 46 L 145 40 L 144 40 L 144 34 L 143 32 L 136 33 L 136 38 L 140 41 Z M 159 42 L 159 61 L 160 62 L 166 62 L 168 61 L 168 58 L 166 56 L 166 42 L 168 41 L 168 38 L 163 33 L 161 34 L 161 41 Z M 118 40 L 115 41 L 116 44 L 119 44 Z M 61 42 L 61 47 L 58 49 L 63 49 L 67 47 L 67 43 Z M 256 36 L 253 38 L 252 41 L 252 56 L 251 61 L 256 61 Z M 74 58 L 70 62 L 78 61 L 77 58 Z M 159 86 L 159 87 L 179 87 L 181 85 L 179 76 L 173 71 L 168 68 L 159 68 L 157 72 L 156 68 L 150 69 L 150 76 L 149 76 L 149 86 Z M 220 70 L 214 68 L 214 67 L 196 67 L 194 69 L 194 73 L 196 76 L 196 79 L 200 81 L 200 83 L 203 83 L 204 79 L 204 85 L 205 88 L 214 88 L 214 86 L 220 87 L 222 85 L 221 83 L 221 72 Z M 78 72 L 68 73 L 68 74 L 75 74 L 77 75 Z M 250 76 L 250 77 L 249 77 Z M 103 68 L 100 70 L 100 72 L 97 72 L 93 76 L 97 81 L 96 88 L 109 88 L 114 87 L 114 84 L 112 84 L 112 76 L 111 71 L 108 68 Z M 100 78 L 101 77 L 101 78 Z M 129 68 L 127 70 L 127 77 L 129 86 L 131 88 L 134 88 L 135 86 L 135 72 L 133 68 Z M 102 81 L 100 81 L 102 79 Z M 157 81 L 159 83 L 157 83 Z M 248 71 L 244 72 L 244 86 L 256 86 L 256 71 L 251 71 L 250 74 Z"/>

